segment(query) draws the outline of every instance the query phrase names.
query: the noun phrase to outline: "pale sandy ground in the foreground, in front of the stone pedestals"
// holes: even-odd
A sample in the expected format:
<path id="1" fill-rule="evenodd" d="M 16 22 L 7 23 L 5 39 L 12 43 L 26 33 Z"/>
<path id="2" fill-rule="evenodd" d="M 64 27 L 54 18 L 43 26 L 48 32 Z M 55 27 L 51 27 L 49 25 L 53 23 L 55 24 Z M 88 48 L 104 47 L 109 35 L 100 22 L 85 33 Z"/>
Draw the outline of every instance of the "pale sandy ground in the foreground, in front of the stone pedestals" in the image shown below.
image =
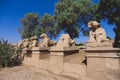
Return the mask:
<path id="1" fill-rule="evenodd" d="M 16 66 L 0 70 L 0 80 L 79 80 L 71 76 L 55 74 L 47 69 L 35 71 L 33 66 Z"/>

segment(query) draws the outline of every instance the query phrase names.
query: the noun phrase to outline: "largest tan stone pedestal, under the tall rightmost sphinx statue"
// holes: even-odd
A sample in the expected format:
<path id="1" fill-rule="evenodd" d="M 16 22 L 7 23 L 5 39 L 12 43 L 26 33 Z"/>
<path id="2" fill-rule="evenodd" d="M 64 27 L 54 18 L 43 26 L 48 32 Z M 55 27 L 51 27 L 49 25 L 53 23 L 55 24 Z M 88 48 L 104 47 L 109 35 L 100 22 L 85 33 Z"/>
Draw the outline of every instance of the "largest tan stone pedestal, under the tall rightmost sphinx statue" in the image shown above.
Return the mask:
<path id="1" fill-rule="evenodd" d="M 87 77 L 93 80 L 120 80 L 120 56 L 116 48 L 88 48 Z"/>

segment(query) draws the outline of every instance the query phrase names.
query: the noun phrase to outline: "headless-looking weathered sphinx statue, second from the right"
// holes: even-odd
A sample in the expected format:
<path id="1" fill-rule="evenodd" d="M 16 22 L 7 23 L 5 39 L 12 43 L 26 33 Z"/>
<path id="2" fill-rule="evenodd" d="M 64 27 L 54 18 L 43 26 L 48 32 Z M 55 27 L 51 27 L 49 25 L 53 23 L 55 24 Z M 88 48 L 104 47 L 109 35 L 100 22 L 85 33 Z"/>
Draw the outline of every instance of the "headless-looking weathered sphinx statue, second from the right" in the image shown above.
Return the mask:
<path id="1" fill-rule="evenodd" d="M 63 35 L 60 37 L 60 40 L 59 40 L 57 46 L 60 46 L 60 47 L 75 46 L 75 40 L 72 40 L 72 39 L 70 38 L 70 35 L 69 35 L 69 34 L 63 34 Z"/>

